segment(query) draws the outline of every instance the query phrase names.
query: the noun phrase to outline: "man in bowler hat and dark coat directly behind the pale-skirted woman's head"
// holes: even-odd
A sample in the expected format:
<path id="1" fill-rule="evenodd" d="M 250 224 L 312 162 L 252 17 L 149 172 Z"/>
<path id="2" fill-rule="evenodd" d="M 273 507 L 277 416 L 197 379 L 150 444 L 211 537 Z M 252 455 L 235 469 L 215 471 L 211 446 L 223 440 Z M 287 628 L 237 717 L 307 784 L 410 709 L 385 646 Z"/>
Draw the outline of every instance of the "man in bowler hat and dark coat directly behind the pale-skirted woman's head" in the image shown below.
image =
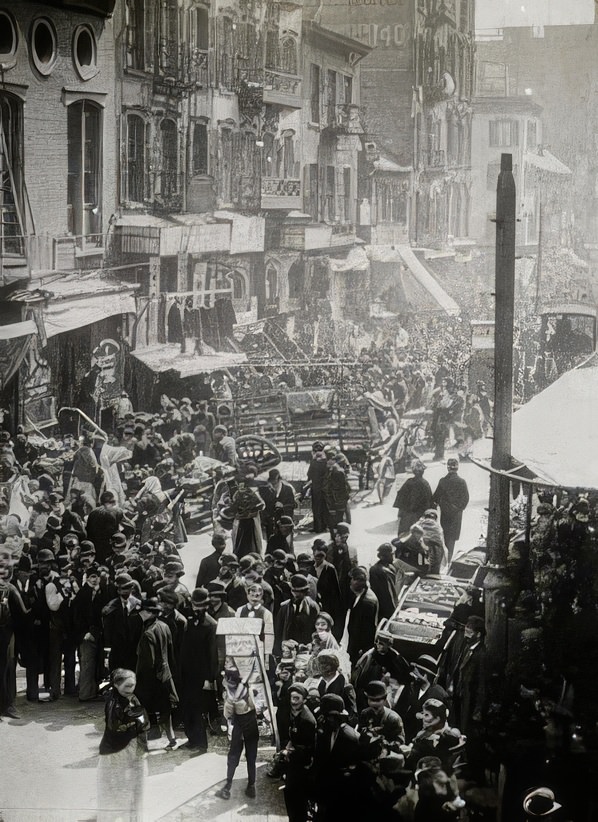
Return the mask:
<path id="1" fill-rule="evenodd" d="M 109 651 L 108 667 L 111 671 L 115 668 L 134 671 L 137 645 L 143 633 L 139 615 L 141 602 L 132 596 L 134 582 L 129 574 L 119 574 L 114 583 L 117 597 L 102 610 L 104 646 Z"/>

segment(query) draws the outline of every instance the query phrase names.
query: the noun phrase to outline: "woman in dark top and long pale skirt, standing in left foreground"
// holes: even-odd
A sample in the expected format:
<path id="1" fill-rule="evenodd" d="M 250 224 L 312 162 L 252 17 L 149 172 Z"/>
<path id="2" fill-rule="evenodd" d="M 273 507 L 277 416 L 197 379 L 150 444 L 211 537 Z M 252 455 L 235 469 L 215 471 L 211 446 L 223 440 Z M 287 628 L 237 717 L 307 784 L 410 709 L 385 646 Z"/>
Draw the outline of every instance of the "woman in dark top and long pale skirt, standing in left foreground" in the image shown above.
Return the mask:
<path id="1" fill-rule="evenodd" d="M 133 671 L 116 668 L 111 679 L 100 742 L 97 822 L 143 822 L 149 722 L 134 695 Z"/>

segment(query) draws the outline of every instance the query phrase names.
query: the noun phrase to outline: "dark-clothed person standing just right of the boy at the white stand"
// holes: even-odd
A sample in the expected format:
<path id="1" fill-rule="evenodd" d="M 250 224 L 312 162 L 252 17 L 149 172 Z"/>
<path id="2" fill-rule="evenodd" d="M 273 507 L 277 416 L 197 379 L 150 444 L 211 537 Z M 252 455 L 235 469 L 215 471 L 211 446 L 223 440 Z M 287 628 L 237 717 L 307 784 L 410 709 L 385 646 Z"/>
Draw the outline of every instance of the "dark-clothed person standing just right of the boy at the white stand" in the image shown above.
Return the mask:
<path id="1" fill-rule="evenodd" d="M 309 769 L 316 744 L 316 720 L 305 704 L 307 689 L 301 683 L 289 687 L 291 717 L 286 759 L 284 801 L 289 822 L 305 822 L 309 804 Z"/>

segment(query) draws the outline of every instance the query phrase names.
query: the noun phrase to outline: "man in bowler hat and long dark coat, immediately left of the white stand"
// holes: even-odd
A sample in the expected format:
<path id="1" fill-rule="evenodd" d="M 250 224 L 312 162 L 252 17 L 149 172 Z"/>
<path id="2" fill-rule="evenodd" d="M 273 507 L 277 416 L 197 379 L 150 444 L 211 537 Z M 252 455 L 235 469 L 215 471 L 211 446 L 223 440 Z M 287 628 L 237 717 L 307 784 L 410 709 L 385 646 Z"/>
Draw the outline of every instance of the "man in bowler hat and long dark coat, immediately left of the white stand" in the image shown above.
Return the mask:
<path id="1" fill-rule="evenodd" d="M 218 653 L 216 620 L 208 614 L 209 596 L 205 588 L 191 594 L 193 615 L 187 620 L 181 647 L 181 704 L 190 751 L 205 753 L 208 737 L 204 715 L 213 713 L 216 694 Z"/>

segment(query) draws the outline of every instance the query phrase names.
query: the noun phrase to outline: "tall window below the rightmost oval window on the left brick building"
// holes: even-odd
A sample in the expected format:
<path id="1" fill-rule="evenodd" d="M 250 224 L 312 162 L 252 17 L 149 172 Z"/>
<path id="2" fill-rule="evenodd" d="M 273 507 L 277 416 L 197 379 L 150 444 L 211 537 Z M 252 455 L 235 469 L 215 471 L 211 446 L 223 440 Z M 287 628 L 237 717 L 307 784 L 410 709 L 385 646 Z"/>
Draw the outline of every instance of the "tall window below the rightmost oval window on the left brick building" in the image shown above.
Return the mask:
<path id="1" fill-rule="evenodd" d="M 69 231 L 101 244 L 102 111 L 95 103 L 72 103 L 67 117 Z"/>

